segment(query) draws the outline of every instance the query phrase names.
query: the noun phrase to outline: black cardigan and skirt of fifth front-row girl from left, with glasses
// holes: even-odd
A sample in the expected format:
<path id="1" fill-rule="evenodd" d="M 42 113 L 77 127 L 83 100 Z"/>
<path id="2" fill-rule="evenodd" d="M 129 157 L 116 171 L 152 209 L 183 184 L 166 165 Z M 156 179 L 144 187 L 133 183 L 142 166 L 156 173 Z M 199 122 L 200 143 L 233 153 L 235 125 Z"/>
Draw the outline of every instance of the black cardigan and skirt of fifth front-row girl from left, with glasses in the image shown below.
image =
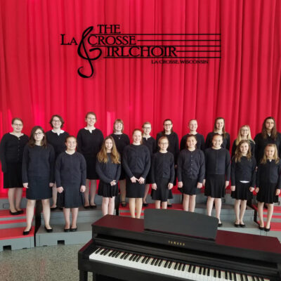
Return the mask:
<path id="1" fill-rule="evenodd" d="M 169 183 L 174 183 L 174 155 L 171 152 L 156 152 L 152 156 L 151 180 L 156 183 L 157 190 L 151 190 L 152 200 L 166 202 L 169 197 Z"/>

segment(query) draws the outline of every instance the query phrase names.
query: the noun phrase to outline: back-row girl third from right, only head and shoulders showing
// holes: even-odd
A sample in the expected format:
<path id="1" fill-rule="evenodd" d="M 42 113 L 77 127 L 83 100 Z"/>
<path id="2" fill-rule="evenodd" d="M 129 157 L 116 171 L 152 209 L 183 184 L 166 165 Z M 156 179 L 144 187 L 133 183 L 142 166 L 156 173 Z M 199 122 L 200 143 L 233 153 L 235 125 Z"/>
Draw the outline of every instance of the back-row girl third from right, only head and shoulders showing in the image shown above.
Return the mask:
<path id="1" fill-rule="evenodd" d="M 226 148 L 227 150 L 230 150 L 230 135 L 229 133 L 226 133 L 226 122 L 224 121 L 223 117 L 217 117 L 215 119 L 214 123 L 214 130 L 210 133 L 208 133 L 205 143 L 205 148 L 211 148 L 212 147 L 212 139 L 215 133 L 218 133 L 219 135 L 223 136 L 223 143 L 221 144 L 222 148 Z"/>

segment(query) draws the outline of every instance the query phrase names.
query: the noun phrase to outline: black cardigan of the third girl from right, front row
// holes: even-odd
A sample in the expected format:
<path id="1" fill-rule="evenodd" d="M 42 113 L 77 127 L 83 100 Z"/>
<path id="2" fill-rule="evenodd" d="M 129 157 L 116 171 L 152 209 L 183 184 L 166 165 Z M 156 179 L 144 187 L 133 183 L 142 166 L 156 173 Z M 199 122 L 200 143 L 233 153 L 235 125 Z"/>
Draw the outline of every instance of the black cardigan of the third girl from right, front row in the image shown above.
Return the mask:
<path id="1" fill-rule="evenodd" d="M 230 154 L 226 148 L 205 150 L 206 175 L 226 175 L 230 179 Z"/>

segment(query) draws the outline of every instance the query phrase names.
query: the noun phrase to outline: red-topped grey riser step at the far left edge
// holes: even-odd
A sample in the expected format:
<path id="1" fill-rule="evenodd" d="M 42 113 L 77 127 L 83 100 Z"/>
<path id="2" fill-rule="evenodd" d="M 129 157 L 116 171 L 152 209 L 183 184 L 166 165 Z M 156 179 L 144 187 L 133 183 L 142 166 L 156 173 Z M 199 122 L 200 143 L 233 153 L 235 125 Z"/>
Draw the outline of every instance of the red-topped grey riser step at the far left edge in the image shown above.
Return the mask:
<path id="1" fill-rule="evenodd" d="M 34 226 L 30 230 L 29 235 L 22 235 L 25 227 L 20 228 L 4 228 L 0 231 L 0 251 L 5 247 L 12 250 L 28 249 L 34 247 Z"/>

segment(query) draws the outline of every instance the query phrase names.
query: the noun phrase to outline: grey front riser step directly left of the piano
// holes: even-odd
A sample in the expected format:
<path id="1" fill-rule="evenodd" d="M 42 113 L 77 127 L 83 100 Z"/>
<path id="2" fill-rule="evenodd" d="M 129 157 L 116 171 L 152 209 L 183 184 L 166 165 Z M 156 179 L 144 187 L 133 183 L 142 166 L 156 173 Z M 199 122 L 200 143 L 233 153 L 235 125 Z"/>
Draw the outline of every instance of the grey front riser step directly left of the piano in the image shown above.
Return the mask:
<path id="1" fill-rule="evenodd" d="M 36 247 L 54 246 L 57 244 L 85 244 L 92 238 L 91 223 L 77 223 L 77 231 L 65 233 L 64 224 L 51 225 L 52 233 L 47 233 L 44 226 L 40 226 L 35 235 Z"/>

